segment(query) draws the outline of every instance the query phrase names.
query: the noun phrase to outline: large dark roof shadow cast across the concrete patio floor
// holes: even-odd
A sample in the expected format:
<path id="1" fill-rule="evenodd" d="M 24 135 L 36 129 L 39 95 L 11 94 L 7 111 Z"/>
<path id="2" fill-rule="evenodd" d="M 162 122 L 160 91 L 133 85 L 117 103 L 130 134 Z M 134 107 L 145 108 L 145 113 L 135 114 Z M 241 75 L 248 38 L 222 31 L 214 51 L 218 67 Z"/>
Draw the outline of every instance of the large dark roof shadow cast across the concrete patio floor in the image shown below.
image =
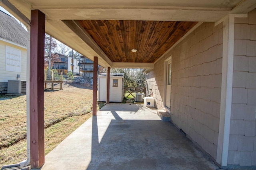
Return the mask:
<path id="1" fill-rule="evenodd" d="M 101 111 L 106 111 L 106 106 Z M 145 109 L 140 106 L 134 110 Z M 92 152 L 87 170 L 218 168 L 172 123 L 124 120 L 117 111 L 110 112 L 115 119 L 110 121 L 101 141 L 98 130 L 102 125 L 98 126 L 97 116 L 92 117 Z"/>

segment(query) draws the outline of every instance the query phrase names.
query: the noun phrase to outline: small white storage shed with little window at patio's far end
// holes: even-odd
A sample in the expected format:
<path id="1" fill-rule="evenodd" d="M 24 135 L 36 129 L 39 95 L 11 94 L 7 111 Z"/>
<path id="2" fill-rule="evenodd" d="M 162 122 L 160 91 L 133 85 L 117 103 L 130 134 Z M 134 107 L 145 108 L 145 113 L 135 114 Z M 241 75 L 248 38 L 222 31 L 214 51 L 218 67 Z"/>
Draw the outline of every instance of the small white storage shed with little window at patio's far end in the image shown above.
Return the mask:
<path id="1" fill-rule="evenodd" d="M 106 102 L 106 73 L 98 76 L 98 101 Z M 124 74 L 110 74 L 109 102 L 122 102 L 124 98 Z"/>

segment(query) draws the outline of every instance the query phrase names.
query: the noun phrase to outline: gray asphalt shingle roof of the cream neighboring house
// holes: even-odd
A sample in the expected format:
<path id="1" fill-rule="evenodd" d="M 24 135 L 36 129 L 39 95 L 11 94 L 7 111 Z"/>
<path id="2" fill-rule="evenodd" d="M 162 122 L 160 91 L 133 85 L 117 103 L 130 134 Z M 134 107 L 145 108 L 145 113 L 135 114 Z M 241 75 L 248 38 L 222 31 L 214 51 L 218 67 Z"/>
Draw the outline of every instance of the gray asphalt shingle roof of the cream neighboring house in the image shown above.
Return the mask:
<path id="1" fill-rule="evenodd" d="M 0 38 L 27 46 L 27 31 L 13 17 L 0 10 Z"/>

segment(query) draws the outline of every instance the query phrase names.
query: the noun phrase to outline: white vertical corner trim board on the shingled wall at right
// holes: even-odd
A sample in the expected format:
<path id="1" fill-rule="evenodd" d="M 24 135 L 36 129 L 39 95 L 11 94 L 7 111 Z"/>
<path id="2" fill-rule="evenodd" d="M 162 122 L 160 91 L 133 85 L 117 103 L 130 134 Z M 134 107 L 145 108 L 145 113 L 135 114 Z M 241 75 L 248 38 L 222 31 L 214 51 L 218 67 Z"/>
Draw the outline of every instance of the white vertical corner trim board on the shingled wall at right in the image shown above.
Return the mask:
<path id="1" fill-rule="evenodd" d="M 232 81 L 234 62 L 234 21 L 235 15 L 229 14 L 223 21 L 222 84 L 220 98 L 220 124 L 216 161 L 227 166 L 232 105 Z"/>

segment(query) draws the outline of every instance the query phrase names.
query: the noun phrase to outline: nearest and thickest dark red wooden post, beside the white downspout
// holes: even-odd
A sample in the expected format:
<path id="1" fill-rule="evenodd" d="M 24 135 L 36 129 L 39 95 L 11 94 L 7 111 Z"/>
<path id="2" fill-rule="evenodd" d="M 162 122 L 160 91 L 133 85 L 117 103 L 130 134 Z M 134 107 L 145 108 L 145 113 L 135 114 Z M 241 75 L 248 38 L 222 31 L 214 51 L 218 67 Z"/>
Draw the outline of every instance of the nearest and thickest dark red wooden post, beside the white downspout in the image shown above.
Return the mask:
<path id="1" fill-rule="evenodd" d="M 31 10 L 30 152 L 31 169 L 44 164 L 44 32 L 45 14 Z"/>

